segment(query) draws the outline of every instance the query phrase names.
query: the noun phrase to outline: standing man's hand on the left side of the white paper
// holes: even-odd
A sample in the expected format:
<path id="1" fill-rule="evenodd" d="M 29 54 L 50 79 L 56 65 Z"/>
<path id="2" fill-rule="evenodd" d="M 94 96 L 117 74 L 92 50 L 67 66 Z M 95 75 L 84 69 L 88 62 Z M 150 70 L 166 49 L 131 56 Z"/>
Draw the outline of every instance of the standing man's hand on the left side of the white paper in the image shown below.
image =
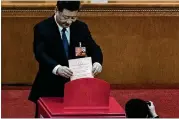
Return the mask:
<path id="1" fill-rule="evenodd" d="M 70 78 L 73 75 L 73 72 L 71 71 L 70 68 L 68 68 L 66 66 L 60 66 L 57 69 L 57 75 L 60 75 L 65 78 Z"/>

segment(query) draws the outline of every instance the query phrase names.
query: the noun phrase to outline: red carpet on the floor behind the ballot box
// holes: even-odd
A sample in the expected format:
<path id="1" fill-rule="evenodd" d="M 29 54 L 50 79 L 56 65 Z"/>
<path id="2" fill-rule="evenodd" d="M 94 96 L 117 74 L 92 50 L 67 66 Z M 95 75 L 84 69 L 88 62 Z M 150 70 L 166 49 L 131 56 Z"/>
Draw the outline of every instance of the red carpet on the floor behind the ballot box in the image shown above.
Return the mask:
<path id="1" fill-rule="evenodd" d="M 2 118 L 33 118 L 34 105 L 27 100 L 29 90 L 2 90 Z M 127 100 L 151 100 L 162 118 L 179 117 L 179 89 L 112 90 L 111 95 L 124 107 Z"/>

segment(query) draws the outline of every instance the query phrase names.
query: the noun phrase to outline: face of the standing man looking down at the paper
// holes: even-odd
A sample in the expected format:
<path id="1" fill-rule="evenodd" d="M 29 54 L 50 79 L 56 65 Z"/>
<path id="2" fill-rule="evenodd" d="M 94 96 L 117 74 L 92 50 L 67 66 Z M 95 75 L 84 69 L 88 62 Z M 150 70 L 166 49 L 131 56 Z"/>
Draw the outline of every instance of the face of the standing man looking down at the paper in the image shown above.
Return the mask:
<path id="1" fill-rule="evenodd" d="M 62 12 L 56 10 L 56 20 L 60 26 L 63 28 L 69 27 L 72 22 L 75 22 L 77 19 L 78 10 L 69 11 L 64 9 Z"/>

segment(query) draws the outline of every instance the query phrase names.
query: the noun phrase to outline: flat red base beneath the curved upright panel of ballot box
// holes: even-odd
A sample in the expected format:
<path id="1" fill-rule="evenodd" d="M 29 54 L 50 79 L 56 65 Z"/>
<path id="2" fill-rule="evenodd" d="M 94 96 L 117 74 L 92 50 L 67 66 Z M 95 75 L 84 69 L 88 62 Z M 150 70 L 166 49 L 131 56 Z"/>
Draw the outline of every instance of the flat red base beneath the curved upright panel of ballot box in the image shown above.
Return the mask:
<path id="1" fill-rule="evenodd" d="M 109 98 L 109 108 L 101 107 L 65 109 L 63 98 L 40 98 L 39 117 L 43 118 L 125 118 L 123 108 L 113 97 Z"/>

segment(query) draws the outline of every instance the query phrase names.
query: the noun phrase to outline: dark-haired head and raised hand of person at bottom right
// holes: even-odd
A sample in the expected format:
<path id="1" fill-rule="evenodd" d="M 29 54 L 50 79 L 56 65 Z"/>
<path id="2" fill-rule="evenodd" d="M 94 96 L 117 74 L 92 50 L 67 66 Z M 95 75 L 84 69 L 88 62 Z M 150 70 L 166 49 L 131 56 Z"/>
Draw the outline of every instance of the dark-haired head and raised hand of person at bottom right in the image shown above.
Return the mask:
<path id="1" fill-rule="evenodd" d="M 129 100 L 125 105 L 125 112 L 127 118 L 158 118 L 153 102 L 141 99 Z"/>

